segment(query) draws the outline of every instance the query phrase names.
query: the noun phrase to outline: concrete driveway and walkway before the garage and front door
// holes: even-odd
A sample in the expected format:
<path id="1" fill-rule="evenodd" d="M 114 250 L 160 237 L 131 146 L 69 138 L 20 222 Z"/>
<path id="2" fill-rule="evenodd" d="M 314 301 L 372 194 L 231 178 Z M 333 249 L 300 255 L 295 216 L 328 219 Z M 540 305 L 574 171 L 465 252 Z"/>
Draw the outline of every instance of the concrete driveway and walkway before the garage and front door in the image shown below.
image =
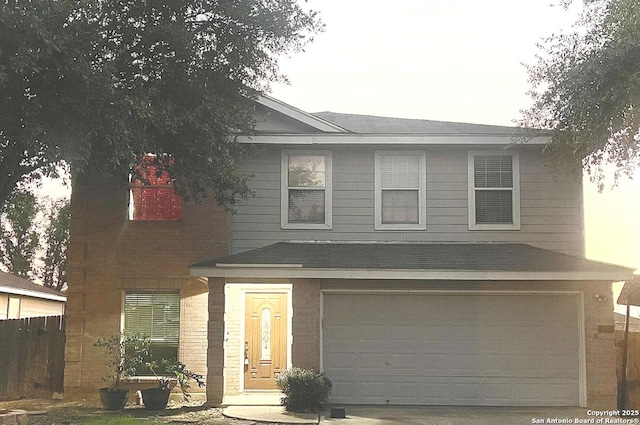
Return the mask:
<path id="1" fill-rule="evenodd" d="M 455 407 L 455 406 L 344 406 L 346 418 L 285 412 L 281 406 L 229 406 L 224 415 L 277 424 L 332 425 L 525 425 L 544 423 L 597 423 L 587 409 L 577 407 Z M 576 421 L 593 420 L 593 422 Z M 569 422 L 568 420 L 571 420 Z"/>

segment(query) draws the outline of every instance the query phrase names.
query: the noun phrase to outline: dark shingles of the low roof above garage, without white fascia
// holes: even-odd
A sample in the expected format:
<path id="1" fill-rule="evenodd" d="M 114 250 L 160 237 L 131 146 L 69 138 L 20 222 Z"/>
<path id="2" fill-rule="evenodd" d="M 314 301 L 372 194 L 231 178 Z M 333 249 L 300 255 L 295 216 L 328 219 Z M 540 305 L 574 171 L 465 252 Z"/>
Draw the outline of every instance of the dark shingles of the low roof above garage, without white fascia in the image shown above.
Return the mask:
<path id="1" fill-rule="evenodd" d="M 619 275 L 625 267 L 587 260 L 522 243 L 278 242 L 204 261 L 216 265 L 300 265 L 311 269 L 597 272 Z"/>

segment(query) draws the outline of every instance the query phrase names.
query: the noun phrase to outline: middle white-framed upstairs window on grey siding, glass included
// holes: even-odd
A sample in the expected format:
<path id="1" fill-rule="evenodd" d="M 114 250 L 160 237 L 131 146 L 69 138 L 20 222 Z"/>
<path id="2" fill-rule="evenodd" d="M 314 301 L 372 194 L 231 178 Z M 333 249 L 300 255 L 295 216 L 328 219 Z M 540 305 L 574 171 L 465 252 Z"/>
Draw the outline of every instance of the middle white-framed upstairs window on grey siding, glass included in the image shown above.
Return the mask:
<path id="1" fill-rule="evenodd" d="M 425 153 L 378 151 L 375 161 L 375 228 L 424 230 Z"/>

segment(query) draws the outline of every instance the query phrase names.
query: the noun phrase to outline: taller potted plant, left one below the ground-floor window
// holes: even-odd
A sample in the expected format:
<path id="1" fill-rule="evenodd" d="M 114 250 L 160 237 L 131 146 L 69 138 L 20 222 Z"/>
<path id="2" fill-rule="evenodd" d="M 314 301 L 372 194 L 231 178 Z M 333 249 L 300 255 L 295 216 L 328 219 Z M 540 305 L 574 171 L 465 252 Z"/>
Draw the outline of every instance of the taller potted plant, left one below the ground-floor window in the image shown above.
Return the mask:
<path id="1" fill-rule="evenodd" d="M 120 388 L 122 380 L 132 376 L 149 354 L 149 339 L 141 335 L 118 334 L 100 338 L 93 345 L 103 348 L 109 372 L 103 378 L 111 386 L 100 388 L 100 401 L 106 410 L 120 410 L 127 403 L 129 390 Z"/>

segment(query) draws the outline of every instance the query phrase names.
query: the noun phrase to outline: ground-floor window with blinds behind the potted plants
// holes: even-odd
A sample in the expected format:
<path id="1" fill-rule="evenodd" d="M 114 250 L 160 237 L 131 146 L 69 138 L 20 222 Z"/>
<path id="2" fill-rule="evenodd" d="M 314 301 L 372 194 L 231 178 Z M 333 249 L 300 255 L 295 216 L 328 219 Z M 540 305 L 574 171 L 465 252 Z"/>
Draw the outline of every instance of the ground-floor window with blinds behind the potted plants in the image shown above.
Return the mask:
<path id="1" fill-rule="evenodd" d="M 127 291 L 124 296 L 124 333 L 149 337 L 152 356 L 146 360 L 178 360 L 180 294 Z M 136 374 L 148 375 L 151 371 L 136 371 Z"/>

